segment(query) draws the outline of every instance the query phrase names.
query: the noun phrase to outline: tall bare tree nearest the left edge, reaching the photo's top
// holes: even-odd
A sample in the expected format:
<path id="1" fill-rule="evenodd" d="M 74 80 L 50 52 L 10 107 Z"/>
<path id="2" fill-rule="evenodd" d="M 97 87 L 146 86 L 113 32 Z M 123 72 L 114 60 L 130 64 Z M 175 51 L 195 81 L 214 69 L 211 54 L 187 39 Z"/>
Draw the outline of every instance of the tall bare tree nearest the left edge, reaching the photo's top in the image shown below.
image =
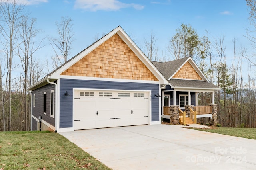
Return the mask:
<path id="1" fill-rule="evenodd" d="M 24 14 L 24 5 L 18 4 L 18 0 L 0 1 L 1 33 L 4 38 L 4 53 L 7 56 L 8 65 L 8 98 L 9 98 L 9 130 L 11 130 L 11 94 L 12 94 L 12 59 L 14 50 L 18 47 L 16 39 L 20 28 L 20 20 Z"/>

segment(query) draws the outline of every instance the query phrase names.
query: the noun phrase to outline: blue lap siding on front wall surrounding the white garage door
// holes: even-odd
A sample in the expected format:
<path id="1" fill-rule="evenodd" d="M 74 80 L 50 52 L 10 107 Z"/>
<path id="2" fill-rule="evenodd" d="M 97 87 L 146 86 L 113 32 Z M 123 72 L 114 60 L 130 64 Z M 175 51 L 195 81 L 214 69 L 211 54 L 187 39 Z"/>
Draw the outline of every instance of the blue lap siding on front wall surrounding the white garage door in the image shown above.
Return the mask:
<path id="1" fill-rule="evenodd" d="M 60 128 L 73 127 L 73 88 L 151 90 L 151 120 L 159 121 L 159 98 L 154 97 L 159 92 L 159 84 L 60 79 Z M 66 91 L 70 96 L 64 96 Z"/>

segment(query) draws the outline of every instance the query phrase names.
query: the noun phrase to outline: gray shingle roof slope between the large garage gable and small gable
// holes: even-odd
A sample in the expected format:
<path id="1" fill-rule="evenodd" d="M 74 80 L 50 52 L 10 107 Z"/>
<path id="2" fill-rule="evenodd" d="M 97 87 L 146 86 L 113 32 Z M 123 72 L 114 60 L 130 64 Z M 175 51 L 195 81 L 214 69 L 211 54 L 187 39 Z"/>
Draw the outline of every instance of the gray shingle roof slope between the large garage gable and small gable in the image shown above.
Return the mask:
<path id="1" fill-rule="evenodd" d="M 174 72 L 182 66 L 182 64 L 188 59 L 188 57 L 168 61 L 168 62 L 156 62 L 152 61 L 152 63 L 156 66 L 156 68 L 163 74 L 163 76 L 168 80 Z"/>

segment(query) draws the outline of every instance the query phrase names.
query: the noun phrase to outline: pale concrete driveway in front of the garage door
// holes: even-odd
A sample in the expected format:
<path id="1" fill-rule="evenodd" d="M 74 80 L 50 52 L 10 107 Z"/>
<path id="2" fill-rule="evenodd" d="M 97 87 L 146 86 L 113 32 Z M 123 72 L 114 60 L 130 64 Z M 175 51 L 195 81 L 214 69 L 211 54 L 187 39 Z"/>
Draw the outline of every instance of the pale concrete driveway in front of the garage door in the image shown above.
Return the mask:
<path id="1" fill-rule="evenodd" d="M 60 133 L 114 170 L 256 170 L 256 140 L 140 125 Z"/>

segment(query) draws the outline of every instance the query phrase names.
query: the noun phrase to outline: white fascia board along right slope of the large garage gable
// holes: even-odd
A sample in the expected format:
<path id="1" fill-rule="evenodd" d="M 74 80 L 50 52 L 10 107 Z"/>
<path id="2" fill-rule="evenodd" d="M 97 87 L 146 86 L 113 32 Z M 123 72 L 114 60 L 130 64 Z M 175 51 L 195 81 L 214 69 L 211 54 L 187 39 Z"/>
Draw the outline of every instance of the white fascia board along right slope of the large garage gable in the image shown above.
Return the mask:
<path id="1" fill-rule="evenodd" d="M 130 47 L 130 49 L 136 54 L 136 56 L 146 65 L 146 67 L 156 76 L 160 81 L 160 84 L 169 84 L 166 78 L 160 73 L 160 71 L 154 66 L 154 64 L 148 59 L 148 57 L 141 51 L 141 49 L 132 41 L 127 33 L 121 28 L 117 34 L 122 40 Z"/>

